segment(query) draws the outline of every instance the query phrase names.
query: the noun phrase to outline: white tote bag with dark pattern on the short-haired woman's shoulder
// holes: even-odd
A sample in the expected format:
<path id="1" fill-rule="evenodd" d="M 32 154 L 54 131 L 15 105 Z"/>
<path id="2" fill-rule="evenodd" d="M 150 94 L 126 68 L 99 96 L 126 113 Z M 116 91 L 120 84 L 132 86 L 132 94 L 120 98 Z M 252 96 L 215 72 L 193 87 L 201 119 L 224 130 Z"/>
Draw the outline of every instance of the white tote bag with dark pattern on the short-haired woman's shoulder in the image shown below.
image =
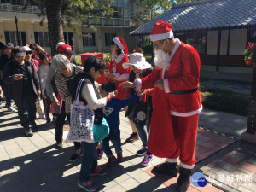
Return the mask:
<path id="1" fill-rule="evenodd" d="M 94 143 L 92 126 L 94 122 L 94 111 L 87 105 L 79 102 L 80 90 L 85 79 L 81 79 L 76 91 L 76 100 L 71 104 L 70 130 L 66 142 L 88 142 Z"/>

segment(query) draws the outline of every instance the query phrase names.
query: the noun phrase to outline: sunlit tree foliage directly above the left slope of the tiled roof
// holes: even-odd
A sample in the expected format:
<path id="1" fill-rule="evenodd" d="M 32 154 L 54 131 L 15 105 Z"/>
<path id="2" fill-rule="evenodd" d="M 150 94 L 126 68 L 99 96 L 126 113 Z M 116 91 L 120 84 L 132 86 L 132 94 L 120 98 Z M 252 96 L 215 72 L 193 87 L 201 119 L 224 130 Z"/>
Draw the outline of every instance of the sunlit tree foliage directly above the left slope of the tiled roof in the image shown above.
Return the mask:
<path id="1" fill-rule="evenodd" d="M 141 12 L 131 13 L 131 20 L 148 22 L 171 9 L 174 4 L 197 2 L 201 0 L 135 0 L 137 6 L 145 8 Z M 150 14 L 148 14 L 148 10 Z"/>

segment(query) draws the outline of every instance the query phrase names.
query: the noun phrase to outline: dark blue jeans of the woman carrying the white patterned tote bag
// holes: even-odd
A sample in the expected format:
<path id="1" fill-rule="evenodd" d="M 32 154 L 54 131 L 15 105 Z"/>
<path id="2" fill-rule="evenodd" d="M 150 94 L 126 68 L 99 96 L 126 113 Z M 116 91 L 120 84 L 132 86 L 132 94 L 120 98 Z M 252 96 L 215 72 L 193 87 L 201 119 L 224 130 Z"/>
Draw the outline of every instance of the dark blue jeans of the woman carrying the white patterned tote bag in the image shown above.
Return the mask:
<path id="1" fill-rule="evenodd" d="M 81 164 L 80 182 L 87 182 L 90 180 L 90 173 L 95 172 L 97 166 L 96 160 L 96 143 L 82 142 L 84 146 L 84 155 Z"/>

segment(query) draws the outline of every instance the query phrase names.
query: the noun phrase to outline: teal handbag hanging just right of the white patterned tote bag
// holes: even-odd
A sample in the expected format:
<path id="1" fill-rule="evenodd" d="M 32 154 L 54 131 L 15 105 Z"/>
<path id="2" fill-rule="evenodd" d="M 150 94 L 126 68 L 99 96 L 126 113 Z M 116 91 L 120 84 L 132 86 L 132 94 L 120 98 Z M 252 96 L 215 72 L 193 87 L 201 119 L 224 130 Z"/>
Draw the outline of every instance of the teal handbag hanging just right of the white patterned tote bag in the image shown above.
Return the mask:
<path id="1" fill-rule="evenodd" d="M 95 142 L 102 141 L 109 134 L 109 126 L 106 119 L 102 119 L 101 125 L 94 124 L 92 127 Z"/>

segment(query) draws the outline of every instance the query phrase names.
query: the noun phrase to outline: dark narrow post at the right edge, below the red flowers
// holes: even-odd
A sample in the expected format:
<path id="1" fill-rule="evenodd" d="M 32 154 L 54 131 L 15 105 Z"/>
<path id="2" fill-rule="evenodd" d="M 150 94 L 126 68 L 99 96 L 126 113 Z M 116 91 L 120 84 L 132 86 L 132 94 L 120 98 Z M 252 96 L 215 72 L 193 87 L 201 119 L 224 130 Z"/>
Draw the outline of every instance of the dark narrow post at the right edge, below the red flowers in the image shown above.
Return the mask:
<path id="1" fill-rule="evenodd" d="M 250 97 L 249 113 L 248 113 L 248 119 L 247 119 L 247 133 L 254 135 L 255 132 L 256 132 L 256 67 L 253 67 L 251 97 Z"/>

